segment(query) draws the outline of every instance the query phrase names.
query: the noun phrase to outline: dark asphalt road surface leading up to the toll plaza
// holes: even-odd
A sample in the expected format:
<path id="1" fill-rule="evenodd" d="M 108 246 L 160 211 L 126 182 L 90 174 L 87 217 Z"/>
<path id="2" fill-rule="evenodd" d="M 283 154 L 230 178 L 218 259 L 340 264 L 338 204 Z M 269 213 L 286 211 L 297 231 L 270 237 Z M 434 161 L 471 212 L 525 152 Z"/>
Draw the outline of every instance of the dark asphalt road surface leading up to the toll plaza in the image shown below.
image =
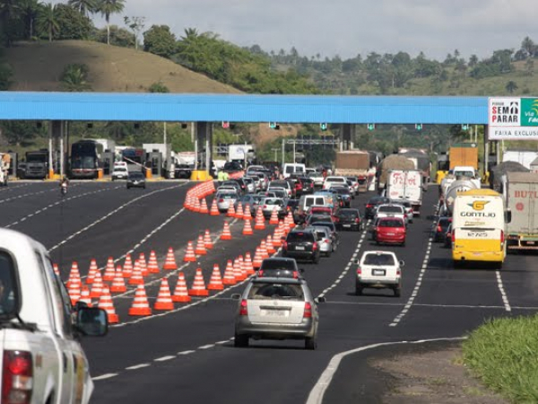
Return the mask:
<path id="1" fill-rule="evenodd" d="M 254 253 L 273 226 L 241 234 L 242 222 L 200 215 L 183 209 L 192 182 L 150 182 L 147 189 L 129 189 L 121 182 L 75 182 L 60 197 L 57 183 L 12 182 L 0 189 L 0 225 L 42 242 L 67 278 L 77 261 L 85 276 L 91 259 L 100 268 L 108 257 L 123 264 L 126 253 L 148 259 L 155 250 L 162 266 L 169 247 L 191 285 L 202 268 L 207 284 L 213 264 L 223 271 L 227 259 Z M 362 209 L 372 193 L 353 201 Z M 153 312 L 147 318 L 127 313 L 134 288 L 114 296 L 120 324 L 105 338 L 86 338 L 95 382 L 92 402 L 306 402 L 331 359 L 344 351 L 373 344 L 433 338 L 460 338 L 492 317 L 536 312 L 538 285 L 535 255 L 510 255 L 500 271 L 487 268 L 454 269 L 450 250 L 430 241 L 438 191 L 424 194 L 421 217 L 410 224 L 405 247 L 374 245 L 366 233 L 343 232 L 341 244 L 319 264 L 300 264 L 319 304 L 318 349 L 305 350 L 301 341 L 251 341 L 233 347 L 235 301 L 244 284 L 176 303 L 172 312 Z M 219 241 L 224 220 L 233 239 Z M 181 262 L 187 242 L 209 230 L 216 243 L 195 263 Z M 390 291 L 367 289 L 354 295 L 354 260 L 364 250 L 394 250 L 405 261 L 402 297 Z M 173 288 L 177 271 L 146 278 L 146 292 L 154 303 L 161 277 Z M 369 369 L 369 355 L 393 352 L 387 346 L 344 356 L 323 402 L 375 402 L 384 391 L 382 376 Z M 329 372 L 331 373 L 331 372 Z M 328 373 L 325 373 L 328 374 Z M 379 378 L 377 378 L 379 376 Z M 324 389 L 325 389 L 324 387 Z M 321 389 L 321 390 L 324 390 Z M 316 396 L 319 399 L 319 395 Z"/>

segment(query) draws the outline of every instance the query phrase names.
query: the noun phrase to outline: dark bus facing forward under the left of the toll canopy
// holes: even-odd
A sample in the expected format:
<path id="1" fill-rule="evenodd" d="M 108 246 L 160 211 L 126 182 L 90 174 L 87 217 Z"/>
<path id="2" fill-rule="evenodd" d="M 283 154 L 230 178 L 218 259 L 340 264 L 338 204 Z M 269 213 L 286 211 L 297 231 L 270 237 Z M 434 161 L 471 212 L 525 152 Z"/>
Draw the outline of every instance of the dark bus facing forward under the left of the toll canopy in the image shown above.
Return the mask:
<path id="1" fill-rule="evenodd" d="M 103 145 L 95 140 L 79 140 L 71 145 L 69 172 L 72 179 L 97 179 Z"/>

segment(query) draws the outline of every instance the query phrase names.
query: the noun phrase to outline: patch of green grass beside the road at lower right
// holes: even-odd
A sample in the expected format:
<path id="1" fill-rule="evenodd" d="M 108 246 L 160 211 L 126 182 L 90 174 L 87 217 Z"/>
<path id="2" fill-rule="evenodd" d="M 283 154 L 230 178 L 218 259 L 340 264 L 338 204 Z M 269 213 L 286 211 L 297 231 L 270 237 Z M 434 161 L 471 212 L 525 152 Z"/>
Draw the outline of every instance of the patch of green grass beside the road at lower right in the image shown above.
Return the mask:
<path id="1" fill-rule="evenodd" d="M 491 390 L 538 402 L 538 316 L 493 319 L 463 343 L 464 364 Z"/>

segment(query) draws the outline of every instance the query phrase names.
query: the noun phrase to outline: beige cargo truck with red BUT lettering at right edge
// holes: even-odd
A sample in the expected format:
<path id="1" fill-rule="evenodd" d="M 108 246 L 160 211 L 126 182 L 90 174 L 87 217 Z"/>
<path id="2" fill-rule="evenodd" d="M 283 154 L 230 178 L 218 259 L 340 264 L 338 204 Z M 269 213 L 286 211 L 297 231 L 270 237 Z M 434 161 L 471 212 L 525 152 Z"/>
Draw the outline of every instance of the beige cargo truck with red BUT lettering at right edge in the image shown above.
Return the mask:
<path id="1" fill-rule="evenodd" d="M 538 174 L 507 172 L 502 194 L 512 221 L 508 224 L 508 250 L 538 250 Z"/>

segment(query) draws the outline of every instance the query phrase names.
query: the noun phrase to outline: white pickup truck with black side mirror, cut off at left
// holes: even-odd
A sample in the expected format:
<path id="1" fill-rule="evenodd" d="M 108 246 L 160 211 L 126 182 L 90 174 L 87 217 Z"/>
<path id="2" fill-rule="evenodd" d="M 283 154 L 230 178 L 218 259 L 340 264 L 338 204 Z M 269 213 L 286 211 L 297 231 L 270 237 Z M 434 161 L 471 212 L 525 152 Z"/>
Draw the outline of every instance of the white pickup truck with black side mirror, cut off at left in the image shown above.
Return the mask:
<path id="1" fill-rule="evenodd" d="M 105 311 L 74 309 L 39 242 L 0 229 L 0 402 L 88 403 L 93 382 L 79 339 L 107 329 Z"/>

